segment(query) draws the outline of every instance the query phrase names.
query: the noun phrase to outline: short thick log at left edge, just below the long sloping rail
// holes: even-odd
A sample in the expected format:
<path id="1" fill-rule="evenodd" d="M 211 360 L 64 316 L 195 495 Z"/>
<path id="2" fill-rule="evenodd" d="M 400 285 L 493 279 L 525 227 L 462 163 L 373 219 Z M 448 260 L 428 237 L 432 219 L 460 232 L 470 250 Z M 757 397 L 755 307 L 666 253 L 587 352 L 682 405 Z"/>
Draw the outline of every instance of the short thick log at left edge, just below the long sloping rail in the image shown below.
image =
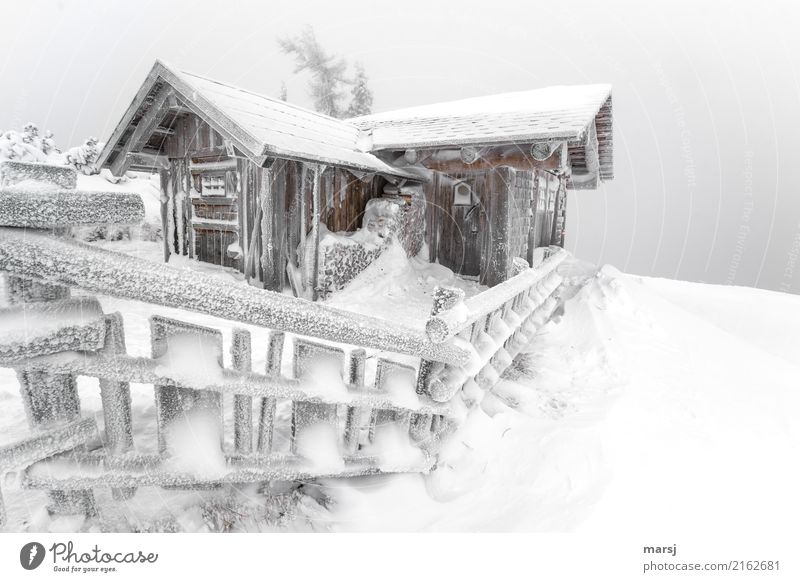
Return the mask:
<path id="1" fill-rule="evenodd" d="M 0 360 L 4 362 L 67 350 L 98 350 L 106 331 L 100 303 L 89 297 L 0 309 L 0 329 Z"/>

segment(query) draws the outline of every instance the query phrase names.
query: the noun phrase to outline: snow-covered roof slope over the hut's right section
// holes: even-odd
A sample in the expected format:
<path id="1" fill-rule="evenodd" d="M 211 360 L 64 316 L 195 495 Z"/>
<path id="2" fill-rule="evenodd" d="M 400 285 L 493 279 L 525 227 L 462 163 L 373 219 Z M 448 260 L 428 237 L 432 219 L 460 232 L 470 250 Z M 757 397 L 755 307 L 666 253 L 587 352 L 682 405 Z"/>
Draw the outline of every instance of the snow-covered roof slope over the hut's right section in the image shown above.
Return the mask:
<path id="1" fill-rule="evenodd" d="M 557 86 L 411 107 L 350 119 L 372 151 L 444 145 L 581 140 L 610 85 Z"/>

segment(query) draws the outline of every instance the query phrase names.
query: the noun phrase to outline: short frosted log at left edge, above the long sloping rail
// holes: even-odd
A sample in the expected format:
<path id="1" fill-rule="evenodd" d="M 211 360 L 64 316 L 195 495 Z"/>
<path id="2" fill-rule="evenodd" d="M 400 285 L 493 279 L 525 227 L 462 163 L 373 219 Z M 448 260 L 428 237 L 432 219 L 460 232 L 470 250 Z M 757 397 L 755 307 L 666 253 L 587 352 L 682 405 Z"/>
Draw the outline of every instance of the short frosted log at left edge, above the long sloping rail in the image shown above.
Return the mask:
<path id="1" fill-rule="evenodd" d="M 43 187 L 0 189 L 0 226 L 52 228 L 139 224 L 144 203 L 129 192 L 79 192 Z"/>

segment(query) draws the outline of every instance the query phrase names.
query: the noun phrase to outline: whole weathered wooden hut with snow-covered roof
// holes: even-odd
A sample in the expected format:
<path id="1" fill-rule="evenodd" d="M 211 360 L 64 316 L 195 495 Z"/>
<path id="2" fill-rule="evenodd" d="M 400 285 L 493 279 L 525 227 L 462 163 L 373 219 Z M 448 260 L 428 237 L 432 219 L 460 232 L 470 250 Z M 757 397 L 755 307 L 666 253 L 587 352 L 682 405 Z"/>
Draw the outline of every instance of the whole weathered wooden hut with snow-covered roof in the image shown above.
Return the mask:
<path id="1" fill-rule="evenodd" d="M 514 258 L 563 246 L 567 191 L 610 179 L 612 162 L 606 85 L 340 120 L 159 61 L 98 166 L 160 172 L 165 260 L 186 254 L 317 297 L 331 289 L 326 269 L 351 278 L 340 267 L 377 255 L 347 235 L 333 240 L 356 255 L 322 252 L 327 233 L 366 227 L 370 207 L 397 219 L 410 253 L 424 242 L 432 261 L 500 283 Z"/>

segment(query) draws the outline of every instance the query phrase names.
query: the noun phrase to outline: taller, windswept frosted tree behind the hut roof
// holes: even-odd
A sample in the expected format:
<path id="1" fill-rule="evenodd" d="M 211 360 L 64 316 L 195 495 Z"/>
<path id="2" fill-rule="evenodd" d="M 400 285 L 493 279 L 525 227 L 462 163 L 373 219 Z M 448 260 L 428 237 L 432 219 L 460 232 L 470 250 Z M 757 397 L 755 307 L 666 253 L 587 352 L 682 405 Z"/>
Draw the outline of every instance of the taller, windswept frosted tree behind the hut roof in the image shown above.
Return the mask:
<path id="1" fill-rule="evenodd" d="M 294 56 L 295 73 L 306 70 L 311 73 L 309 89 L 314 109 L 331 117 L 342 117 L 343 85 L 349 84 L 344 59 L 326 53 L 311 27 L 296 37 L 279 38 L 278 44 L 284 53 Z"/>

